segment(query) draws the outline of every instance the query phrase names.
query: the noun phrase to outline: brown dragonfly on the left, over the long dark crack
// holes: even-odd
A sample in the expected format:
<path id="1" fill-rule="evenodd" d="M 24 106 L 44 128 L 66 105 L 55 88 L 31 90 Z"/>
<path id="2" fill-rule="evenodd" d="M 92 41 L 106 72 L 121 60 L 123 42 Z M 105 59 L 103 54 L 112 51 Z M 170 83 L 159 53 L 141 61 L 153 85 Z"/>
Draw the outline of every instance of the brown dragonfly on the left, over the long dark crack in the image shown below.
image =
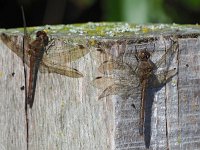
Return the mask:
<path id="1" fill-rule="evenodd" d="M 30 108 L 33 106 L 38 70 L 42 73 L 57 73 L 72 78 L 83 77 L 80 71 L 69 67 L 68 64 L 89 52 L 89 49 L 84 45 L 73 44 L 73 42 L 68 44 L 64 40 L 55 41 L 54 39 L 49 42 L 49 37 L 44 31 L 38 31 L 36 39 L 32 41 L 30 36 L 25 34 L 23 38 L 24 46 L 17 36 L 2 33 L 0 39 L 30 67 L 27 95 Z M 58 42 L 61 46 L 53 47 L 55 42 Z M 23 47 L 25 49 L 24 54 Z M 56 52 L 52 48 L 55 48 Z M 45 51 L 47 52 L 45 53 Z"/>

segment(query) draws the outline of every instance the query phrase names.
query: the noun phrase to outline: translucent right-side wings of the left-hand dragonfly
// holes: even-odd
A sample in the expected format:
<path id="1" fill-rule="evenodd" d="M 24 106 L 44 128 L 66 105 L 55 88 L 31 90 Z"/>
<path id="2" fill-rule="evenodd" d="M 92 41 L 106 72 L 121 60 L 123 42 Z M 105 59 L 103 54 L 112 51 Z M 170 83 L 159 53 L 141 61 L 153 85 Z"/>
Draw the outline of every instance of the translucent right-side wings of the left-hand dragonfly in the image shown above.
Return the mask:
<path id="1" fill-rule="evenodd" d="M 50 73 L 57 73 L 73 78 L 83 77 L 81 72 L 69 67 L 68 63 L 85 56 L 89 52 L 88 48 L 83 45 L 72 46 L 69 44 L 62 50 L 56 49 L 54 52 L 55 53 L 48 53 L 43 57 L 42 61 L 46 69 L 43 67 L 43 69 L 41 69 L 42 72 L 46 72 L 47 70 Z"/>

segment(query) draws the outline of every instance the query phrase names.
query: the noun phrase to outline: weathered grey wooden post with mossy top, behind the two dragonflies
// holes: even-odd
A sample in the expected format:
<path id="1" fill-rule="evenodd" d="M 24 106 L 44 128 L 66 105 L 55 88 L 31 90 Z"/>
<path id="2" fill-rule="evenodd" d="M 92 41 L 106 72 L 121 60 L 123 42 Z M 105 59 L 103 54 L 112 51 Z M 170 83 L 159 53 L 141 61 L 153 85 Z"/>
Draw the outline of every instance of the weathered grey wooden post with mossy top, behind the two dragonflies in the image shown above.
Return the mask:
<path id="1" fill-rule="evenodd" d="M 83 77 L 38 73 L 35 102 L 29 110 L 30 150 L 200 148 L 199 26 L 88 23 L 29 30 L 41 29 L 48 29 L 55 40 L 50 55 L 61 49 L 68 51 L 68 45 L 82 45 L 89 51 L 80 59 L 66 61 L 66 68 L 77 69 Z M 22 32 L 16 31 L 1 33 L 16 36 L 13 39 L 20 44 Z M 98 100 L 108 85 L 98 89 L 92 81 L 105 76 L 98 67 L 110 58 L 123 55 L 123 61 L 133 65 L 136 45 L 139 50 L 147 48 L 152 52 L 151 60 L 155 62 L 170 47 L 171 39 L 177 39 L 179 47 L 167 67 L 177 68 L 178 74 L 166 86 L 148 90 L 142 137 L 138 133 L 140 94 L 127 99 L 116 94 Z M 22 60 L 2 39 L 0 53 L 0 149 L 24 150 L 27 143 L 24 91 L 20 89 L 24 85 Z M 136 109 L 131 106 L 133 103 Z"/>

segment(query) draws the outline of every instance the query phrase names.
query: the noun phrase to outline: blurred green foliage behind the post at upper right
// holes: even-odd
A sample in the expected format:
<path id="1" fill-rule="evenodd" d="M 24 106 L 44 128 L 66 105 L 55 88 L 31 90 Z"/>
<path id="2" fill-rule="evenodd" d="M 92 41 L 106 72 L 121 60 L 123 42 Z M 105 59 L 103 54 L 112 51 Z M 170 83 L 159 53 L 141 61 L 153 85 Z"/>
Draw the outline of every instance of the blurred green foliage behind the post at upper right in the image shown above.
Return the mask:
<path id="1" fill-rule="evenodd" d="M 107 21 L 191 23 L 200 21 L 200 0 L 104 0 Z"/>

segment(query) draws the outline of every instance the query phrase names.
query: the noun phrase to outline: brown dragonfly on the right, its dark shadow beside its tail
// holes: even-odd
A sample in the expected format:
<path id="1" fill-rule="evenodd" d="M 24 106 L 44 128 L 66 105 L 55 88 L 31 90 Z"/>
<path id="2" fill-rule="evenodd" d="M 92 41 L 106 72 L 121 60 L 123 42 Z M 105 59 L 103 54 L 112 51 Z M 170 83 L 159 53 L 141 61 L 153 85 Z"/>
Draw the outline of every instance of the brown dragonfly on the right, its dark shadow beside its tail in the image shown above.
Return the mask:
<path id="1" fill-rule="evenodd" d="M 177 46 L 177 42 L 174 41 L 170 48 L 166 50 L 165 54 L 156 63 L 153 63 L 150 60 L 151 53 L 148 52 L 147 49 L 137 51 L 135 48 L 134 57 L 136 62 L 132 63 L 135 64 L 135 66 L 124 62 L 123 59 L 120 58 L 121 56 L 118 58 L 112 56 L 109 57 L 110 54 L 106 51 L 101 51 L 101 54 L 103 53 L 104 57 L 109 58 L 109 60 L 104 61 L 98 68 L 104 76 L 96 77 L 92 81 L 92 84 L 101 89 L 104 87 L 99 99 L 109 95 L 120 95 L 121 97 L 124 97 L 125 95 L 127 98 L 133 94 L 139 93 L 137 91 L 138 88 L 140 89 L 140 135 L 143 135 L 144 130 L 146 89 L 160 87 L 176 75 L 176 68 L 167 69 L 158 74 L 155 74 L 155 72 L 161 64 L 166 61 L 166 56 L 175 52 Z M 124 54 L 122 54 L 122 56 L 123 55 Z"/>

